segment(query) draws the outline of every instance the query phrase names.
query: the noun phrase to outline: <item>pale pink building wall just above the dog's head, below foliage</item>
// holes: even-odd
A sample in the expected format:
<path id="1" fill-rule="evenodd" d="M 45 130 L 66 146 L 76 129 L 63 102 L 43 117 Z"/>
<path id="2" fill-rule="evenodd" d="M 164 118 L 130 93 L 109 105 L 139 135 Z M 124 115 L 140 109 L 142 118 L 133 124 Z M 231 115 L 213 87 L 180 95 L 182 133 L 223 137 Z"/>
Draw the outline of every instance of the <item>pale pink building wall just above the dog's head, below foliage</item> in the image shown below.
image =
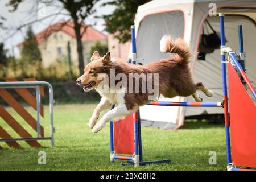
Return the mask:
<path id="1" fill-rule="evenodd" d="M 113 34 L 110 34 L 108 35 L 108 48 L 111 57 L 121 58 L 123 61 L 127 61 L 130 50 L 130 41 L 121 44 L 114 38 Z"/>

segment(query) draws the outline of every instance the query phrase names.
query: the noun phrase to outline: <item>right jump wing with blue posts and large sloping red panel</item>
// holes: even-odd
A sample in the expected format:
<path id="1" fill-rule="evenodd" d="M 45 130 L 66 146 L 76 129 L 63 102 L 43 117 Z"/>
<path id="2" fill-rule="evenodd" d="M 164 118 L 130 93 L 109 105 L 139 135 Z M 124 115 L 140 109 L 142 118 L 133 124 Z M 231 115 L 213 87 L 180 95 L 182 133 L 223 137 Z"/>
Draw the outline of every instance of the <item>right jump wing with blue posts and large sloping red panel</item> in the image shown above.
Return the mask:
<path id="1" fill-rule="evenodd" d="M 253 85 L 251 85 L 249 78 L 247 78 L 244 72 L 245 53 L 243 52 L 242 26 L 238 26 L 238 37 L 240 45 L 238 59 L 240 60 L 240 63 L 242 63 L 243 67 L 241 67 L 232 49 L 225 46 L 224 14 L 220 13 L 219 16 L 221 32 L 221 64 L 226 131 L 226 152 L 228 170 L 236 171 L 240 169 L 234 168 L 233 166 L 244 166 L 247 168 L 256 167 L 256 106 L 251 100 L 249 94 L 246 92 L 246 85 L 250 89 L 254 99 L 256 99 L 256 92 L 253 88 Z M 226 54 L 228 55 L 228 61 L 226 61 Z M 228 63 L 229 78 L 229 110 L 226 85 L 226 63 Z M 240 73 L 242 78 L 240 78 L 237 73 Z M 241 106 L 243 107 L 241 108 Z M 228 113 L 230 114 L 230 121 Z M 229 128 L 231 133 L 231 145 Z"/>

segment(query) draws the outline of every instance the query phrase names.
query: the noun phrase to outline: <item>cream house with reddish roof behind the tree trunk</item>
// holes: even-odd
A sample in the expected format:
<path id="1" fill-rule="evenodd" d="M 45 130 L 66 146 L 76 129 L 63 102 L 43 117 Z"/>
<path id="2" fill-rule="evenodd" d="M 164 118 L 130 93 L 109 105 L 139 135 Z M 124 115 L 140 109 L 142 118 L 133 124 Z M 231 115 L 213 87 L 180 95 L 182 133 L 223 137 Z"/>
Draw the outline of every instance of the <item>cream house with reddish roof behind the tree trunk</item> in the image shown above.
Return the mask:
<path id="1" fill-rule="evenodd" d="M 44 67 L 48 67 L 57 59 L 67 57 L 68 42 L 71 47 L 72 64 L 78 65 L 76 35 L 73 27 L 73 21 L 57 22 L 35 35 L 42 55 L 42 63 Z M 80 31 L 84 32 L 85 27 L 86 25 L 82 24 Z M 87 27 L 86 31 L 82 35 L 85 64 L 90 60 L 90 48 L 96 41 L 100 41 L 102 44 L 107 44 L 107 36 L 91 26 Z M 22 47 L 23 43 L 18 44 L 19 52 L 21 52 Z"/>

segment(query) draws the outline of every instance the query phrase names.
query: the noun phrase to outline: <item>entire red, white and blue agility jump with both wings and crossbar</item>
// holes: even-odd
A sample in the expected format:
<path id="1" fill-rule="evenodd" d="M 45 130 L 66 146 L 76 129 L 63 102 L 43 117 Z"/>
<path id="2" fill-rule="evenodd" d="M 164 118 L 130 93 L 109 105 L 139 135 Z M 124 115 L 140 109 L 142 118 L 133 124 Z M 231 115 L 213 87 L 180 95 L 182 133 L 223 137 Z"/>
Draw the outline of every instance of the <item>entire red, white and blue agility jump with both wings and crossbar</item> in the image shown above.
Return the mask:
<path id="1" fill-rule="evenodd" d="M 240 60 L 236 59 L 236 54 L 231 48 L 225 47 L 224 32 L 224 14 L 220 13 L 220 30 L 221 30 L 221 65 L 222 65 L 222 85 L 223 85 L 223 101 L 218 102 L 163 102 L 152 101 L 147 105 L 160 106 L 185 106 L 185 107 L 223 107 L 225 115 L 225 133 L 226 133 L 226 152 L 228 160 L 228 170 L 240 170 L 234 166 L 256 167 L 256 123 L 254 113 L 256 107 L 246 92 L 245 86 L 250 89 L 253 97 L 256 98 L 256 92 L 251 82 L 247 78 L 245 72 L 242 26 L 239 26 L 239 42 L 240 42 Z M 131 26 L 131 47 L 132 47 L 132 64 L 136 64 L 136 43 L 135 43 L 135 26 Z M 226 61 L 226 53 L 228 53 L 232 63 Z M 229 77 L 229 104 L 226 85 L 226 63 L 228 63 Z M 242 66 L 241 66 L 241 65 Z M 234 67 L 237 71 L 235 71 Z M 237 72 L 240 73 L 238 77 Z M 243 106 L 241 109 L 240 106 Z M 228 109 L 230 107 L 230 111 Z M 112 106 L 112 109 L 114 106 Z M 230 121 L 229 121 L 230 113 Z M 229 126 L 232 123 L 232 126 Z M 230 144 L 230 131 L 232 135 L 232 150 Z M 248 132 L 250 131 L 250 132 Z M 125 133 L 125 134 L 124 134 Z M 119 156 L 117 154 L 132 155 Z M 232 160 L 232 155 L 233 160 Z M 127 163 L 121 165 L 132 164 L 135 167 L 144 164 L 170 162 L 170 159 L 144 162 L 142 158 L 142 138 L 141 138 L 141 122 L 139 110 L 133 115 L 129 115 L 125 119 L 118 122 L 110 122 L 110 161 L 127 160 Z"/>

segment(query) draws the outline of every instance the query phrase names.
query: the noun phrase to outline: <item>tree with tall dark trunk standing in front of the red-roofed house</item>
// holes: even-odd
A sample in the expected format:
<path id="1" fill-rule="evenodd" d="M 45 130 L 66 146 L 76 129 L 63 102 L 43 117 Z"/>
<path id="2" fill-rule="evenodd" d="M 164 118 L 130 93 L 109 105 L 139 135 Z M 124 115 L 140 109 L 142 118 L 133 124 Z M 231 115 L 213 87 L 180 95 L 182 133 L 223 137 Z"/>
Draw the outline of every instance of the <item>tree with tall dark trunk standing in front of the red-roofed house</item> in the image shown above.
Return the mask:
<path id="1" fill-rule="evenodd" d="M 11 11 L 15 11 L 18 9 L 18 6 L 20 3 L 22 3 L 24 0 L 9 0 L 8 6 L 13 7 Z M 37 0 L 40 2 L 39 0 Z M 51 16 L 56 16 L 57 14 L 62 14 L 62 15 L 68 15 L 72 18 L 74 22 L 74 30 L 76 34 L 76 43 L 77 43 L 77 53 L 79 57 L 79 71 L 80 75 L 84 73 L 84 55 L 83 55 L 83 47 L 82 47 L 82 35 L 86 32 L 86 28 L 90 25 L 84 26 L 84 21 L 85 19 L 93 14 L 96 10 L 94 10 L 94 5 L 96 2 L 99 0 L 58 0 L 57 2 L 60 2 L 61 5 L 63 6 L 63 9 L 66 10 L 68 13 L 64 14 L 59 11 L 59 13 L 53 13 L 52 15 L 48 15 L 42 19 L 49 18 Z M 56 1 L 52 0 L 44 0 L 42 1 L 48 6 L 51 6 L 54 4 Z M 35 21 L 33 21 L 35 22 Z M 82 28 L 82 31 L 81 31 Z"/>

